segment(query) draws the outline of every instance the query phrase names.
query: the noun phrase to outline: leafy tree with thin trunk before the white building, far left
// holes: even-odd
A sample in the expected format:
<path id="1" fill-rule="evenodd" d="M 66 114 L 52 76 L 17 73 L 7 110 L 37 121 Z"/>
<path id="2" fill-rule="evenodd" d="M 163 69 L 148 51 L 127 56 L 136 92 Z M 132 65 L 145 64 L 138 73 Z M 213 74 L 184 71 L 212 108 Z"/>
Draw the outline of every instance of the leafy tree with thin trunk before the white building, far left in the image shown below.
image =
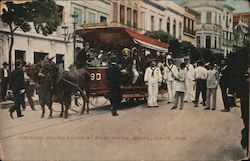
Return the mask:
<path id="1" fill-rule="evenodd" d="M 20 28 L 23 32 L 28 32 L 33 24 L 37 33 L 42 32 L 47 36 L 56 31 L 57 26 L 61 24 L 61 13 L 52 0 L 37 0 L 20 4 L 6 2 L 5 5 L 1 19 L 10 29 L 9 64 L 11 64 L 15 31 Z"/>

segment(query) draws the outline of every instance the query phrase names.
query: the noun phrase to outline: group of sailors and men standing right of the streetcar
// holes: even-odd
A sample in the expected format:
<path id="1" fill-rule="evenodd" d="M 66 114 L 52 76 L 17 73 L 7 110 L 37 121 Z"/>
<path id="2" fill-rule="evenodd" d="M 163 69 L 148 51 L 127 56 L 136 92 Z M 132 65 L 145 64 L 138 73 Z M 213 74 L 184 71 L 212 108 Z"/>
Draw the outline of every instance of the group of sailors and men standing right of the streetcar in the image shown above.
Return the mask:
<path id="1" fill-rule="evenodd" d="M 190 63 L 190 58 L 184 57 L 182 63 L 174 64 L 171 55 L 167 55 L 164 69 L 160 70 L 156 59 L 151 60 L 151 65 L 145 70 L 144 81 L 148 87 L 148 107 L 158 107 L 157 96 L 161 84 L 166 86 L 168 103 L 172 103 L 171 109 L 176 109 L 180 104 L 183 109 L 184 102 L 193 102 L 194 107 L 199 106 L 202 98 L 204 110 L 216 109 L 217 88 L 221 88 L 224 109 L 222 112 L 230 111 L 229 99 L 229 73 L 227 72 L 226 59 L 221 61 L 221 66 L 213 62 L 202 60 L 196 63 L 196 67 Z"/>

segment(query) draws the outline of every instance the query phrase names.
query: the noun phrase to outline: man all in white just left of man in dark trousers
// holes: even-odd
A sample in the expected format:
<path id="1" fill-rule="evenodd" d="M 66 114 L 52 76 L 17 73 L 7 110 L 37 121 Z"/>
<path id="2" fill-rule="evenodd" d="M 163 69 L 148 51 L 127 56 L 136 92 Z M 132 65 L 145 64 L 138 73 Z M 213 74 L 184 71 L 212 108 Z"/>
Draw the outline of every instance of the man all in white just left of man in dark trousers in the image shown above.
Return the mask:
<path id="1" fill-rule="evenodd" d="M 189 56 L 184 58 L 184 63 L 186 63 L 186 92 L 185 92 L 185 97 L 184 101 L 194 101 L 194 66 L 190 64 L 190 58 Z"/>

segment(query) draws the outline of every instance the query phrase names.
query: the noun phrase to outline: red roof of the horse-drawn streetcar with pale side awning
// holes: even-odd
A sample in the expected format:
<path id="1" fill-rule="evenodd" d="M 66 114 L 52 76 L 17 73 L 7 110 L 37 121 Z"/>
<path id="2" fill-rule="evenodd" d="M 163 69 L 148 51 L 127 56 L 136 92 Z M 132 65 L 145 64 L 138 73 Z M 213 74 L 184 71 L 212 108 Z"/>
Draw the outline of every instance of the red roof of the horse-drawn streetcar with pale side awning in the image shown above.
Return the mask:
<path id="1" fill-rule="evenodd" d="M 169 44 L 144 36 L 123 27 L 103 27 L 77 30 L 84 41 L 106 51 L 121 51 L 136 45 L 160 52 L 168 52 Z"/>

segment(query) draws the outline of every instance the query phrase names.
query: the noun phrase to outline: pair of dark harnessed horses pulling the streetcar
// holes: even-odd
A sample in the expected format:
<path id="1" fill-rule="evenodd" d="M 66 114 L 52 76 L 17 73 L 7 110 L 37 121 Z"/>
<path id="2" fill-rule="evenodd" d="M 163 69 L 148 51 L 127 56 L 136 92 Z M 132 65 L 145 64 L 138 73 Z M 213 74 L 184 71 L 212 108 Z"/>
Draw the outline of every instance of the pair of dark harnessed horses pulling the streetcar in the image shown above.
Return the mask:
<path id="1" fill-rule="evenodd" d="M 81 114 L 84 113 L 86 105 L 88 114 L 90 74 L 83 68 L 71 72 L 63 71 L 59 73 L 59 69 L 52 59 L 53 58 L 45 59 L 32 68 L 32 77 L 37 82 L 39 102 L 42 107 L 41 118 L 43 118 L 45 114 L 45 105 L 47 105 L 50 110 L 49 118 L 52 118 L 53 96 L 55 96 L 61 104 L 60 117 L 68 118 L 71 96 L 77 92 L 79 92 L 83 98 Z"/>

